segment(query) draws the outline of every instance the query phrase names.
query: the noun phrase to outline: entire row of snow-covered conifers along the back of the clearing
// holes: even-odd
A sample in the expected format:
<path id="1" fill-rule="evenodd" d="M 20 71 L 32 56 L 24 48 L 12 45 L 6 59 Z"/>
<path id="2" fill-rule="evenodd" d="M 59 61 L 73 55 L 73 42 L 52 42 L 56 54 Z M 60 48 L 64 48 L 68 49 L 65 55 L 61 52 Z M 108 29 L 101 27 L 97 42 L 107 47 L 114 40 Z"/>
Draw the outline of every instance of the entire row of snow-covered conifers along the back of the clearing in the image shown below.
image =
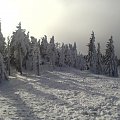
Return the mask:
<path id="1" fill-rule="evenodd" d="M 75 42 L 73 45 L 64 43 L 60 45 L 55 43 L 54 36 L 50 38 L 50 42 L 46 35 L 39 40 L 30 37 L 29 32 L 26 33 L 25 29 L 22 29 L 21 23 L 7 41 L 6 43 L 1 32 L 0 23 L 0 81 L 7 79 L 6 71 L 11 74 L 11 66 L 21 74 L 25 69 L 40 75 L 40 67 L 43 64 L 49 64 L 53 68 L 69 66 L 80 70 L 89 69 L 95 74 L 118 76 L 112 36 L 106 44 L 104 55 L 100 51 L 100 43 L 96 49 L 94 32 L 88 44 L 88 55 L 78 54 Z"/>

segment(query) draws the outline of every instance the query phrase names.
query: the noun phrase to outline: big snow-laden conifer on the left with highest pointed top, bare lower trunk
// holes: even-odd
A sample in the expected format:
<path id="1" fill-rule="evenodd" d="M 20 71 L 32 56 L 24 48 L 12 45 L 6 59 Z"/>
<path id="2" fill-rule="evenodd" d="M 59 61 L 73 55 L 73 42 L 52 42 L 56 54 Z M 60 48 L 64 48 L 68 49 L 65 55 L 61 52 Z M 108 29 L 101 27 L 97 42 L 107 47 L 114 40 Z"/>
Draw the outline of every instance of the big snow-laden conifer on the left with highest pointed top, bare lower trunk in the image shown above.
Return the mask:
<path id="1" fill-rule="evenodd" d="M 25 30 L 21 28 L 21 23 L 17 26 L 17 30 L 13 32 L 10 43 L 11 59 L 16 65 L 16 69 L 22 74 L 23 59 L 27 54 L 28 42 L 26 42 Z"/>

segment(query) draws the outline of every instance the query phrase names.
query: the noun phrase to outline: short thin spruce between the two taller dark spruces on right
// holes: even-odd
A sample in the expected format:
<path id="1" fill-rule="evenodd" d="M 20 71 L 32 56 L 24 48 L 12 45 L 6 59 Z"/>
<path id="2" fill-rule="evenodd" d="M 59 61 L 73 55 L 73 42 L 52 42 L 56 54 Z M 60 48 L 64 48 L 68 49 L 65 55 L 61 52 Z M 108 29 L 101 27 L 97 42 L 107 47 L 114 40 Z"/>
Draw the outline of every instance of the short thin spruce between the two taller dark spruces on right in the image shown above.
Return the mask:
<path id="1" fill-rule="evenodd" d="M 102 74 L 102 54 L 101 54 L 101 51 L 100 51 L 100 43 L 98 43 L 98 47 L 97 47 L 97 71 L 96 73 L 97 74 Z"/>

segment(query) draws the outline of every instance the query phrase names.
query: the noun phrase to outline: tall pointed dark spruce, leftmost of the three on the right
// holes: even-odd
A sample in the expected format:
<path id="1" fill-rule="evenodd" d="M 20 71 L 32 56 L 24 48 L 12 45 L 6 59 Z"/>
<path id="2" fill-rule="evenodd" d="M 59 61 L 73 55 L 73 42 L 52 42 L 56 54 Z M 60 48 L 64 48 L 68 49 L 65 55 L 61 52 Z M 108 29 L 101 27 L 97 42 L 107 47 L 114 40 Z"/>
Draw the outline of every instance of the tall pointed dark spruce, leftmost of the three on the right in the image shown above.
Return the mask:
<path id="1" fill-rule="evenodd" d="M 95 36 L 94 32 L 91 34 L 90 43 L 88 44 L 88 66 L 90 71 L 96 73 L 97 71 L 97 53 L 95 47 Z"/>

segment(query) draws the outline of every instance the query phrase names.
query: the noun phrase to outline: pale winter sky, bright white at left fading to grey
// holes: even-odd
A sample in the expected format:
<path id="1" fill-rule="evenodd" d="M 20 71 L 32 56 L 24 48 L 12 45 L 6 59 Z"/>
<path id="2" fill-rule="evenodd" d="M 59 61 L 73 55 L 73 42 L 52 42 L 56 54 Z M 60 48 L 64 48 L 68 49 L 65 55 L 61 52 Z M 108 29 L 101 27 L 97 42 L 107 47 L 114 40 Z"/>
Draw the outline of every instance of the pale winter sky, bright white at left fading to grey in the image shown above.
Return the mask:
<path id="1" fill-rule="evenodd" d="M 120 0 L 0 0 L 0 18 L 4 36 L 21 21 L 30 35 L 54 35 L 60 43 L 76 41 L 84 54 L 92 30 L 103 51 L 113 35 L 120 57 Z"/>

